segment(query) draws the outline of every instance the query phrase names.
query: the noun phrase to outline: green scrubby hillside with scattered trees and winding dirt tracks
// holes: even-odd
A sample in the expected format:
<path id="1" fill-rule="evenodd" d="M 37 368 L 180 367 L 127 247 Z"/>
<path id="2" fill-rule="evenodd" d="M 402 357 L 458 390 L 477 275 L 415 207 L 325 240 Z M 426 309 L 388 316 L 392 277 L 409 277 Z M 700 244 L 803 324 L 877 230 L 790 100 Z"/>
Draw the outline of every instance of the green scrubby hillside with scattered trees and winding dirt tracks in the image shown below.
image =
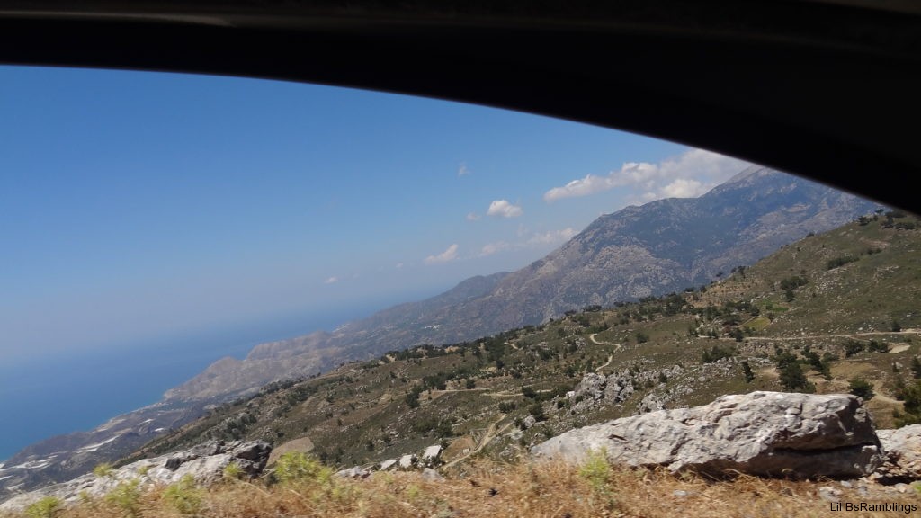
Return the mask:
<path id="1" fill-rule="evenodd" d="M 900 382 L 913 383 L 921 347 L 921 230 L 915 218 L 865 219 L 703 287 L 274 383 L 124 462 L 239 438 L 298 440 L 342 466 L 434 443 L 445 446 L 448 465 L 473 453 L 512 460 L 537 441 L 600 420 L 785 390 L 784 354 L 806 383 L 787 390 L 847 392 L 860 377 L 875 392 L 873 418 L 890 427 L 893 411 L 903 410 L 895 399 Z"/>

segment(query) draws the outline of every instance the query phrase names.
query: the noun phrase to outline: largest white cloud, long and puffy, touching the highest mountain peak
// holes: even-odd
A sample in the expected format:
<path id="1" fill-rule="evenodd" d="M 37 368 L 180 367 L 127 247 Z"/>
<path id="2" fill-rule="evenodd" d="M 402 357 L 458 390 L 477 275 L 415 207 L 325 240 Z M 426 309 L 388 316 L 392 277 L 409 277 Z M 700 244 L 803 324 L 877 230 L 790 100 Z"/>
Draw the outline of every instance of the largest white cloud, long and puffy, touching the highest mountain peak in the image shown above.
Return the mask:
<path id="1" fill-rule="evenodd" d="M 587 196 L 615 187 L 634 187 L 659 197 L 689 197 L 704 194 L 750 164 L 704 149 L 690 149 L 658 164 L 626 162 L 605 176 L 586 175 L 543 194 L 546 202 Z M 664 185 L 664 186 L 663 186 Z M 647 194 L 643 198 L 648 198 Z"/>

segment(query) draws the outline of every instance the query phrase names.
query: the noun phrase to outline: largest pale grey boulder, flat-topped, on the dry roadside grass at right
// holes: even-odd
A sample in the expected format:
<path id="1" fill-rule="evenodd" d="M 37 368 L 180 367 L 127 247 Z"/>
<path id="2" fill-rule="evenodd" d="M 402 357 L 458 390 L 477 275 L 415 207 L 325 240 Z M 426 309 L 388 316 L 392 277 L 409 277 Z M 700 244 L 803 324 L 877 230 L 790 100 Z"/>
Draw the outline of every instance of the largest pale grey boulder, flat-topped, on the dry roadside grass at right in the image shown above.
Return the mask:
<path id="1" fill-rule="evenodd" d="M 535 446 L 541 458 L 612 462 L 723 475 L 861 477 L 882 463 L 869 413 L 850 394 L 754 392 L 570 430 Z"/>

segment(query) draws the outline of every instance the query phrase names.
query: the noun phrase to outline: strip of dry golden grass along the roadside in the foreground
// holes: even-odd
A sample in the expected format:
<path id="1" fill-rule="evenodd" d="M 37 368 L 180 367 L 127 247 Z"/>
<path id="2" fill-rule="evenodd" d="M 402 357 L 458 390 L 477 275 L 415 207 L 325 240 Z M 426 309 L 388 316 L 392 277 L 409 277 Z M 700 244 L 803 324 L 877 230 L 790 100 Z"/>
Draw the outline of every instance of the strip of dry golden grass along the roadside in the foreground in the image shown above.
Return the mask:
<path id="1" fill-rule="evenodd" d="M 273 486 L 227 482 L 201 491 L 194 514 L 215 518 L 277 517 L 595 517 L 595 516 L 824 516 L 830 503 L 818 489 L 841 489 L 844 501 L 921 503 L 914 489 L 899 493 L 871 488 L 869 498 L 832 481 L 809 482 L 737 477 L 713 481 L 664 470 L 584 467 L 562 464 L 479 463 L 448 479 L 430 481 L 417 473 L 375 473 L 364 480 L 313 477 Z M 134 518 L 179 518 L 165 489 L 146 492 Z M 919 505 L 921 509 L 921 505 Z M 187 511 L 188 512 L 188 511 Z M 848 513 L 904 516 L 904 512 Z M 188 515 L 188 514 L 187 514 Z M 84 502 L 56 518 L 130 516 L 115 502 Z"/>

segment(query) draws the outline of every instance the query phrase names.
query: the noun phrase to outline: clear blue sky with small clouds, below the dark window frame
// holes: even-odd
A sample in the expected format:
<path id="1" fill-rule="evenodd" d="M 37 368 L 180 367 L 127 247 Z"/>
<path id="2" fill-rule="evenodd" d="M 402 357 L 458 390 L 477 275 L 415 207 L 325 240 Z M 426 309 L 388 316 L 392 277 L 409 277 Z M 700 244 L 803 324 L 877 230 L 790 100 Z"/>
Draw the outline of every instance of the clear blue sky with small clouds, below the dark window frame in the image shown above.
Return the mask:
<path id="1" fill-rule="evenodd" d="M 530 114 L 230 77 L 0 66 L 0 113 L 7 366 L 364 316 L 746 165 Z"/>

